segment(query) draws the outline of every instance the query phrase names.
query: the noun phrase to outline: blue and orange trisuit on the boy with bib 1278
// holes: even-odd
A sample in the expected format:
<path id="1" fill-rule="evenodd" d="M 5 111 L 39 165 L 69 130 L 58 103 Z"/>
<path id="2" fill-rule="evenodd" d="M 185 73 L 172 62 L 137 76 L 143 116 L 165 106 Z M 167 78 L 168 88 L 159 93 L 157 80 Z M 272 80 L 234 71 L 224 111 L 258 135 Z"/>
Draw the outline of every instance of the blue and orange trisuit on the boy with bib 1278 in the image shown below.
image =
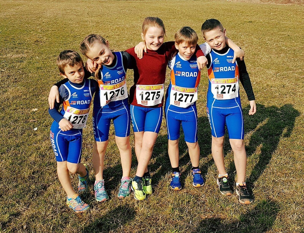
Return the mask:
<path id="1" fill-rule="evenodd" d="M 82 128 L 88 120 L 92 96 L 96 89 L 96 81 L 90 79 L 85 79 L 81 84 L 68 81 L 59 87 L 60 103 L 55 102 L 55 109 L 49 110 L 55 119 L 50 128 L 50 140 L 58 162 L 80 163 Z M 62 109 L 58 113 L 61 103 Z M 63 118 L 71 122 L 71 130 L 62 131 L 59 128 L 58 123 Z"/>

